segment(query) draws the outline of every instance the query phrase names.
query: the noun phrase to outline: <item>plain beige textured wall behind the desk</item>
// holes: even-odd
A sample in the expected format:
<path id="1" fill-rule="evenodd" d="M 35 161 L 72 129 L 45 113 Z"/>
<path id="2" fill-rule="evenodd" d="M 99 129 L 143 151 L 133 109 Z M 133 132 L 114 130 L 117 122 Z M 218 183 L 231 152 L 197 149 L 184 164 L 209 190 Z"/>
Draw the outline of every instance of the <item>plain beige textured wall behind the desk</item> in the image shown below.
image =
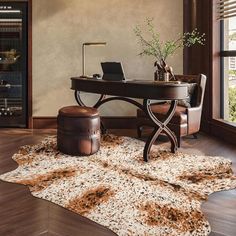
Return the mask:
<path id="1" fill-rule="evenodd" d="M 81 75 L 83 42 L 106 41 L 86 51 L 87 74 L 101 73 L 101 61 L 121 61 L 127 78 L 153 79 L 154 58 L 140 57 L 133 28 L 154 17 L 163 39 L 182 32 L 183 0 L 33 0 L 33 116 L 55 116 L 75 104 L 70 77 Z M 168 64 L 182 73 L 182 51 Z M 88 105 L 94 97 L 84 94 Z M 134 115 L 122 102 L 106 104 L 102 115 Z M 117 112 L 118 111 L 118 112 Z"/>

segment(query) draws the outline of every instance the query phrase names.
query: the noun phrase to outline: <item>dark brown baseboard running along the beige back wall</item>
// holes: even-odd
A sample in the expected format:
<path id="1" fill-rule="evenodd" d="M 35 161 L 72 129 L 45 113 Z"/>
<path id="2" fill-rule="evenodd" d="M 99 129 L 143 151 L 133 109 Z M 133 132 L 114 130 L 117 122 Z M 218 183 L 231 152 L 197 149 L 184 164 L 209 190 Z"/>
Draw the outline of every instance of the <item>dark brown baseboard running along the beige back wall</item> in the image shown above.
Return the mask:
<path id="1" fill-rule="evenodd" d="M 136 129 L 135 116 L 104 116 L 101 119 L 107 129 Z M 56 117 L 33 117 L 33 129 L 56 128 Z"/>

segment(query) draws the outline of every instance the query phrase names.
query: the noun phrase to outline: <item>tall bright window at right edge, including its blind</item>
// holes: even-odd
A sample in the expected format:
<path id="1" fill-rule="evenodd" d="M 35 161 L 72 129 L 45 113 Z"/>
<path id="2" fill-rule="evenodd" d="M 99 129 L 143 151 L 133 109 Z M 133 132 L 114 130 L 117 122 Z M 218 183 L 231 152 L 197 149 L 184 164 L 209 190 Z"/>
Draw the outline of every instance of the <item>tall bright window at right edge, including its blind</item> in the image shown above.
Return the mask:
<path id="1" fill-rule="evenodd" d="M 236 124 L 236 1 L 220 0 L 221 118 Z"/>

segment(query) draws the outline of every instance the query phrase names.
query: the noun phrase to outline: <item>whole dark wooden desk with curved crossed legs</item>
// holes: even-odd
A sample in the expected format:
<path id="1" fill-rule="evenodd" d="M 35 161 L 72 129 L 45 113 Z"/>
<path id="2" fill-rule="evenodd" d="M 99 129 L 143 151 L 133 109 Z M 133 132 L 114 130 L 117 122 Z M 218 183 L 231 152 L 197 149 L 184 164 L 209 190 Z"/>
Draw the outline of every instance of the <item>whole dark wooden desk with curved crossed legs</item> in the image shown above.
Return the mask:
<path id="1" fill-rule="evenodd" d="M 95 108 L 100 107 L 106 102 L 113 100 L 122 100 L 129 102 L 141 110 L 155 123 L 155 128 L 148 137 L 144 150 L 144 161 L 148 161 L 149 152 L 152 144 L 155 142 L 160 133 L 164 132 L 171 142 L 171 152 L 177 150 L 177 139 L 167 124 L 173 117 L 177 105 L 177 101 L 185 99 L 188 95 L 187 84 L 178 82 L 163 81 L 104 81 L 98 79 L 87 79 L 81 77 L 71 78 L 71 89 L 75 90 L 75 99 L 80 106 L 85 104 L 80 99 L 80 91 L 101 94 L 100 99 L 94 105 Z M 106 95 L 113 97 L 106 98 Z M 132 98 L 143 99 L 143 103 L 139 103 Z M 151 100 L 169 100 L 171 105 L 166 114 L 166 119 L 160 121 L 156 118 L 151 110 Z"/>

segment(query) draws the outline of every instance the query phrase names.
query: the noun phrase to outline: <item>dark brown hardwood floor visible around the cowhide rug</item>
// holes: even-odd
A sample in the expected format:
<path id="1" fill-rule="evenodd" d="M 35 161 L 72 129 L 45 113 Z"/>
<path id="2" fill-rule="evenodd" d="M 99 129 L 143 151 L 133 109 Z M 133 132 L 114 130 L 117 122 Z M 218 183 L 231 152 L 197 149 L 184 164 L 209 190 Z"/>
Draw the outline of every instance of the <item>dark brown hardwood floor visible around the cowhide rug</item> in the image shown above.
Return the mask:
<path id="1" fill-rule="evenodd" d="M 112 130 L 117 135 L 136 136 L 135 130 Z M 17 164 L 11 156 L 22 145 L 35 144 L 55 130 L 0 129 L 0 174 Z M 181 151 L 219 155 L 233 162 L 236 173 L 236 147 L 200 134 L 184 138 Z M 214 193 L 202 205 L 209 220 L 211 236 L 236 235 L 236 190 Z M 111 236 L 107 228 L 48 201 L 34 198 L 27 187 L 0 181 L 0 236 Z"/>

